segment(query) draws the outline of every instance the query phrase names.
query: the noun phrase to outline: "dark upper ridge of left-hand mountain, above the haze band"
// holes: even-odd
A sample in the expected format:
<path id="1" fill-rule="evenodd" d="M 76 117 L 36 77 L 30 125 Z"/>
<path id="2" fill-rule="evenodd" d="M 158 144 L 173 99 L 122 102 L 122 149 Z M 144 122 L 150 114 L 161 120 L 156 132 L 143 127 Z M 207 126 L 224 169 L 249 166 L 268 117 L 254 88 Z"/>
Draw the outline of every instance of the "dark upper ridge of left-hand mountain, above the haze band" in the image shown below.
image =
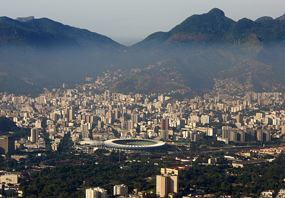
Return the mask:
<path id="1" fill-rule="evenodd" d="M 1 39 L 0 43 L 18 44 L 10 41 L 19 41 L 31 46 L 42 46 L 43 44 L 55 44 L 57 42 L 68 45 L 79 45 L 100 50 L 117 50 L 124 46 L 113 41 L 107 36 L 63 25 L 48 18 L 29 19 L 21 22 L 8 17 L 0 17 Z M 36 45 L 38 44 L 38 45 Z"/>

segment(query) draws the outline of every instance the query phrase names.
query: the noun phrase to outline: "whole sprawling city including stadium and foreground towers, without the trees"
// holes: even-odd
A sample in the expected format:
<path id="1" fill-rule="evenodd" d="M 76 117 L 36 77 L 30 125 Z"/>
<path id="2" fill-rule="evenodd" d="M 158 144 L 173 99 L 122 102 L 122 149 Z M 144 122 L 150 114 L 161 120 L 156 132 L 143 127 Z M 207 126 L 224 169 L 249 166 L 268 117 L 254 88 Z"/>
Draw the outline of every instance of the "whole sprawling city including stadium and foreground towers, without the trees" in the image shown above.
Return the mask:
<path id="1" fill-rule="evenodd" d="M 154 190 L 139 191 L 133 186 L 128 191 L 123 184 L 114 186 L 118 190 L 113 192 L 93 187 L 86 189 L 86 198 L 145 197 L 149 193 L 161 198 L 212 197 L 216 192 L 199 187 L 183 193 L 178 185 L 179 173 L 197 162 L 199 166 L 222 166 L 226 162 L 236 168 L 269 163 L 285 149 L 282 147 L 285 134 L 282 93 L 204 94 L 179 101 L 172 99 L 171 94 L 120 94 L 108 90 L 96 94 L 95 89 L 94 84 L 77 85 L 73 89 L 63 84 L 62 88 L 45 90 L 36 98 L 0 93 L 1 118 L 10 119 L 17 128 L 0 138 L 2 161 L 13 159 L 23 165 L 17 170 L 17 165 L 12 169 L 9 165 L 2 166 L 0 179 L 6 185 L 1 186 L 1 195 L 4 192 L 22 195 L 18 184 L 23 184 L 27 172 L 55 168 L 60 163 L 82 166 L 86 163 L 82 155 L 98 157 L 97 152 L 105 149 L 104 156 L 120 152 L 119 162 L 130 161 L 132 155 L 147 156 L 154 152 L 161 155 L 159 161 L 174 159 L 175 163 L 170 165 L 175 166 L 162 165 Z M 19 129 L 26 131 L 14 136 L 21 133 Z M 194 146 L 194 142 L 200 144 Z M 46 160 L 46 152 L 58 151 L 65 160 L 56 161 L 55 156 Z M 220 156 L 213 157 L 215 152 Z M 72 153 L 73 159 L 67 157 Z M 135 159 L 134 162 L 144 163 Z M 128 170 L 131 166 L 120 166 L 120 169 Z M 259 194 L 272 196 L 274 189 Z M 284 190 L 279 194 L 285 195 Z"/>

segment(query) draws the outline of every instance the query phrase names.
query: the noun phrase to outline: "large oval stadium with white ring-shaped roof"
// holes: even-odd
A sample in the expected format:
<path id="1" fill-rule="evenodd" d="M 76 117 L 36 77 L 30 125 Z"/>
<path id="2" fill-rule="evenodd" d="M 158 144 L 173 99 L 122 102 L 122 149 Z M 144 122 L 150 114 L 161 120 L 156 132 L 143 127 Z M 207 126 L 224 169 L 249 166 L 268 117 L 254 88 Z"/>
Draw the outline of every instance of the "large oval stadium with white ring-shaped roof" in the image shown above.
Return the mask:
<path id="1" fill-rule="evenodd" d="M 158 140 L 115 139 L 106 140 L 103 145 L 107 150 L 141 153 L 163 148 L 165 143 Z"/>

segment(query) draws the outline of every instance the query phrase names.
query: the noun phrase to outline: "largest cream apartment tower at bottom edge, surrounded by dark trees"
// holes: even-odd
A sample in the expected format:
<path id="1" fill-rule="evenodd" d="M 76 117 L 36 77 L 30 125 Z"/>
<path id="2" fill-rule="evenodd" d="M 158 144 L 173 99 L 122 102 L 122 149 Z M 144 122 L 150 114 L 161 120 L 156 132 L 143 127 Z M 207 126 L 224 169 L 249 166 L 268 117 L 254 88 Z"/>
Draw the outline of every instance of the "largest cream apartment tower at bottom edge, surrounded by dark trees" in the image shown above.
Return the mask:
<path id="1" fill-rule="evenodd" d="M 156 176 L 156 195 L 159 198 L 167 196 L 169 193 L 178 193 L 178 176 L 163 174 Z"/>

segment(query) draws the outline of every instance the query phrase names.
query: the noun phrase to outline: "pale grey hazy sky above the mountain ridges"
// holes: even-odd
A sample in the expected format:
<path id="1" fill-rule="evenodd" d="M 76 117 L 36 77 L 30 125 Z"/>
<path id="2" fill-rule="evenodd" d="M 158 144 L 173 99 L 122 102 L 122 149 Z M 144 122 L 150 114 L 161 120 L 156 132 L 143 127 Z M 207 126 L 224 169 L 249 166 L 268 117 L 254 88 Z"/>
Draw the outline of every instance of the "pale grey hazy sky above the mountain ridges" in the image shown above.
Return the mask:
<path id="1" fill-rule="evenodd" d="M 131 45 L 214 7 L 235 21 L 276 18 L 284 14 L 285 0 L 0 0 L 0 15 L 47 17 Z"/>

